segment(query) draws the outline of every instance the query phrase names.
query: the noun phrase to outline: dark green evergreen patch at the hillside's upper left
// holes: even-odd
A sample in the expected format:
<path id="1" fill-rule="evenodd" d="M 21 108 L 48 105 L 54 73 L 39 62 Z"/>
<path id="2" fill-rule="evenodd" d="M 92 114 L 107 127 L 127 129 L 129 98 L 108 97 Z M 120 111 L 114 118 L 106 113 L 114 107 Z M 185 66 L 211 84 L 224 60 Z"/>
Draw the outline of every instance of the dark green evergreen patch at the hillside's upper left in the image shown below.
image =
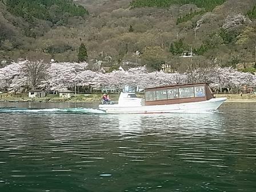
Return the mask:
<path id="1" fill-rule="evenodd" d="M 10 13 L 25 18 L 29 23 L 37 18 L 62 24 L 65 13 L 70 17 L 88 14 L 84 7 L 76 6 L 69 0 L 7 0 L 6 6 Z"/>

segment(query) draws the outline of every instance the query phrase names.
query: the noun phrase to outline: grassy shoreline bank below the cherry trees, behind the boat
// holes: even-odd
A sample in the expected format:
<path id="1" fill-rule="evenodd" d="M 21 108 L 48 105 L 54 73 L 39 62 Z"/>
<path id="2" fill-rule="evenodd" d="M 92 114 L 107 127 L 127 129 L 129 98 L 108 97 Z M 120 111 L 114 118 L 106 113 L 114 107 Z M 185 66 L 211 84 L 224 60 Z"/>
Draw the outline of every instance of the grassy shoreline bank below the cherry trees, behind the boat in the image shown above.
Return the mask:
<path id="1" fill-rule="evenodd" d="M 137 95 L 143 98 L 143 94 Z M 77 94 L 71 98 L 61 98 L 58 95 L 48 94 L 44 98 L 29 98 L 27 94 L 0 94 L 2 102 L 101 102 L 102 94 Z M 110 94 L 111 101 L 118 101 L 118 94 Z M 226 97 L 226 102 L 256 102 L 256 94 L 216 94 L 216 98 Z"/>

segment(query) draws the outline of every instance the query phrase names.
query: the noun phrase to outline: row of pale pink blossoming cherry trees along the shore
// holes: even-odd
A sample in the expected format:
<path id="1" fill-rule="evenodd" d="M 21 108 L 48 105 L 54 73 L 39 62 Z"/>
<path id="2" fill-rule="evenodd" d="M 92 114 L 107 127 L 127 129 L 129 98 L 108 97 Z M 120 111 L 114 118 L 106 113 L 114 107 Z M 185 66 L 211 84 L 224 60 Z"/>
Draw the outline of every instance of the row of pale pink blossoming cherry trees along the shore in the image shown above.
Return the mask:
<path id="1" fill-rule="evenodd" d="M 208 82 L 213 90 L 241 90 L 244 86 L 256 86 L 256 75 L 243 73 L 232 67 L 208 67 L 190 70 L 186 73 L 147 73 L 146 66 L 127 71 L 99 73 L 87 70 L 87 63 L 48 63 L 19 61 L 0 69 L 0 90 L 15 93 L 39 87 L 45 90 L 61 91 L 75 87 L 102 89 L 112 87 L 122 90 L 125 85 L 146 87 L 173 85 L 177 83 Z M 42 70 L 42 71 L 41 71 Z"/>

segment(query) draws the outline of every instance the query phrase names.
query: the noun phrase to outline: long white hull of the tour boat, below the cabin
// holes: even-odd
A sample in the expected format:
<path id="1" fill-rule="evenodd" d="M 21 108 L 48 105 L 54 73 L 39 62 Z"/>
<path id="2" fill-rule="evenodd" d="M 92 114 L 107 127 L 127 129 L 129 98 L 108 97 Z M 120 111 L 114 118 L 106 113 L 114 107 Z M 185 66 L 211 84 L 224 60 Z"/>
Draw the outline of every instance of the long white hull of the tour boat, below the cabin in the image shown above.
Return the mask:
<path id="1" fill-rule="evenodd" d="M 204 113 L 206 111 L 217 110 L 226 98 L 213 98 L 207 101 L 179 103 L 172 105 L 152 105 L 152 106 L 121 106 L 99 105 L 99 110 L 107 114 L 143 114 L 143 113 Z"/>

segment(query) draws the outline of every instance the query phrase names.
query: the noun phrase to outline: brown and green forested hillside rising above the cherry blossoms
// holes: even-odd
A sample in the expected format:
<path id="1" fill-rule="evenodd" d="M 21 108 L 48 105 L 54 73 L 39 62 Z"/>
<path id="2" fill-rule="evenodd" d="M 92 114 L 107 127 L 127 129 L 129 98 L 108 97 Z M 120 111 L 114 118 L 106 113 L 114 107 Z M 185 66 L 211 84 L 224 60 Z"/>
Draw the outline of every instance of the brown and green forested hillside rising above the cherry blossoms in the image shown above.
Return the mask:
<path id="1" fill-rule="evenodd" d="M 149 70 L 163 63 L 180 71 L 238 63 L 250 68 L 255 5 L 256 0 L 4 0 L 0 60 L 78 61 L 83 43 L 87 61 L 102 60 L 110 70 L 125 63 Z M 190 50 L 197 56 L 179 57 Z"/>

